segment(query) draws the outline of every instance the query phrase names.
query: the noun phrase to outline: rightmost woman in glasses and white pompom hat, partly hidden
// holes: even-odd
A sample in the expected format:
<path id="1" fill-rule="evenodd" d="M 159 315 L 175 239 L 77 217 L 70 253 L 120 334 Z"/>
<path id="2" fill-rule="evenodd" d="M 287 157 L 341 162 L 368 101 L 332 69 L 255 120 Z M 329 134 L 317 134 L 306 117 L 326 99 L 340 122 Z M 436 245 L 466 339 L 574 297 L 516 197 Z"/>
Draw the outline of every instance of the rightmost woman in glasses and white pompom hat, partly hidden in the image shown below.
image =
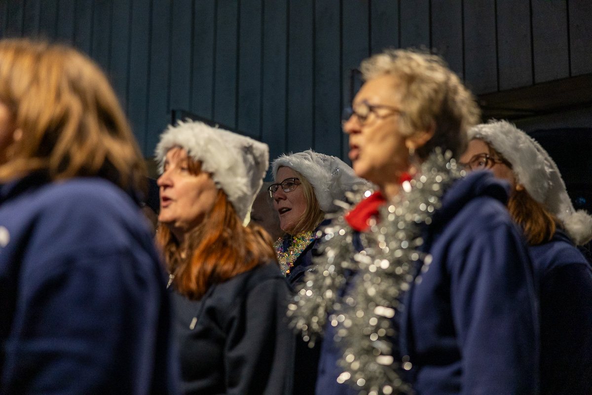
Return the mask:
<path id="1" fill-rule="evenodd" d="M 592 217 L 575 211 L 548 153 L 507 121 L 469 130 L 461 162 L 511 187 L 507 208 L 523 230 L 539 282 L 540 393 L 592 393 L 592 270 L 578 251 Z"/>

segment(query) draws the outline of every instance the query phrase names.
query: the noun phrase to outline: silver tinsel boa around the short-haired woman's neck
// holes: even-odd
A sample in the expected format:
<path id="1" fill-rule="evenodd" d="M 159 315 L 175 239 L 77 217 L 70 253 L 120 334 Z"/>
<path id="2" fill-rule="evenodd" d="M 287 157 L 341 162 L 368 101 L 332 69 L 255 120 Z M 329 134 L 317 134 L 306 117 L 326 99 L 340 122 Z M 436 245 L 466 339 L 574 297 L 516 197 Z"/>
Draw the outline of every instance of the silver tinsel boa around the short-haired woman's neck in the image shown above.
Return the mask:
<path id="1" fill-rule="evenodd" d="M 343 351 L 339 383 L 349 383 L 360 395 L 408 393 L 400 369 L 410 370 L 408 357 L 395 361 L 392 318 L 397 314 L 400 295 L 409 289 L 417 265 L 426 272 L 432 257 L 420 252 L 422 227 L 432 222 L 440 208 L 442 194 L 464 171 L 452 153 L 436 149 L 422 164 L 421 171 L 404 182 L 401 193 L 379 208 L 379 220 L 370 223 L 370 232 L 361 233 L 363 251 L 355 251 L 353 230 L 342 216 L 325 227 L 317 269 L 307 272 L 303 288 L 289 304 L 292 325 L 302 332 L 312 347 L 323 327 L 336 327 L 334 341 Z M 353 205 L 368 192 L 358 190 L 348 196 Z M 319 231 L 321 232 L 321 231 Z M 348 272 L 353 284 L 346 284 Z M 349 272 L 350 273 L 350 272 Z M 347 293 L 339 297 L 347 287 Z"/>

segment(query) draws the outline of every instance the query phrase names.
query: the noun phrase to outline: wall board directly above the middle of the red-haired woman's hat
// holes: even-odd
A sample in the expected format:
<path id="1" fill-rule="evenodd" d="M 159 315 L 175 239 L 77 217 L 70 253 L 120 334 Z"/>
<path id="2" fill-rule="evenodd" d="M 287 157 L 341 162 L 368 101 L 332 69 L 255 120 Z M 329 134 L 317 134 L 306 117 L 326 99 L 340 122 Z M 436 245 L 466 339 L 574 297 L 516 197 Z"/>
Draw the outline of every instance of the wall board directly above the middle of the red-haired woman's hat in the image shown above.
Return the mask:
<path id="1" fill-rule="evenodd" d="M 191 112 L 212 117 L 215 2 L 194 2 Z"/>

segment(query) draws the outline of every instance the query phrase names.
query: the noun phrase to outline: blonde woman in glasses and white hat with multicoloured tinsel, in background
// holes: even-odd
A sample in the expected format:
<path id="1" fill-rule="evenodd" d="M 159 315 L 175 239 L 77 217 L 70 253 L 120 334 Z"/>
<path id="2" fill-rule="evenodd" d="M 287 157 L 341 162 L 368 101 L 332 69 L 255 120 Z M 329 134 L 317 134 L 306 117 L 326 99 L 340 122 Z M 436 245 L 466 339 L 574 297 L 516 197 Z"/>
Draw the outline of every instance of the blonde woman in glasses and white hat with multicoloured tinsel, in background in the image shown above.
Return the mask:
<path id="1" fill-rule="evenodd" d="M 274 247 L 282 272 L 295 286 L 311 268 L 318 227 L 325 214 L 340 208 L 334 200 L 344 200 L 346 191 L 366 182 L 343 160 L 313 150 L 282 155 L 274 160 L 272 169 L 276 184 L 268 191 L 279 226 L 286 233 Z"/>

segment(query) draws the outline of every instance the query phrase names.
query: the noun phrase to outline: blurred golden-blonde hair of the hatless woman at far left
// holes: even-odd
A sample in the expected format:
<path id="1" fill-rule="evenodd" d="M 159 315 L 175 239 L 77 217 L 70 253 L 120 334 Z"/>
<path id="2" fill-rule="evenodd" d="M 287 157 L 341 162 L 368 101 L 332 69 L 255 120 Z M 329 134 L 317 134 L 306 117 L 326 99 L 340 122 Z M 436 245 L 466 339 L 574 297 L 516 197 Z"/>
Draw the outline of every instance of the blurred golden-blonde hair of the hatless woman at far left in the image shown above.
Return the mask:
<path id="1" fill-rule="evenodd" d="M 47 171 L 53 180 L 101 176 L 122 188 L 143 185 L 146 168 L 104 73 L 70 47 L 0 40 L 0 101 L 21 137 L 0 180 Z"/>

